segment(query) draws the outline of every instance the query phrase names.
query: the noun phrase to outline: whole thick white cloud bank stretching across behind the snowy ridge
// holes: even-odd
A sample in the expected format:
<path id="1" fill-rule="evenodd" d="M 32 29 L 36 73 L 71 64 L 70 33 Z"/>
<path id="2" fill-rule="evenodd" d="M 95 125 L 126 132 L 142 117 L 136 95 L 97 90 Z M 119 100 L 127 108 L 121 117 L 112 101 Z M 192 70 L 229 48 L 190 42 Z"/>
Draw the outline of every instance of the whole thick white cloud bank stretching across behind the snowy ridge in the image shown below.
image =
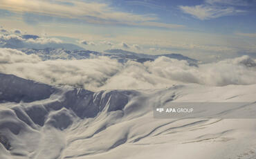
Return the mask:
<path id="1" fill-rule="evenodd" d="M 158 57 L 143 64 L 121 64 L 109 57 L 42 61 L 37 55 L 0 48 L 0 72 L 46 84 L 68 84 L 91 91 L 165 88 L 172 84 L 211 86 L 256 84 L 256 61 L 248 56 L 190 66 L 188 62 Z"/>

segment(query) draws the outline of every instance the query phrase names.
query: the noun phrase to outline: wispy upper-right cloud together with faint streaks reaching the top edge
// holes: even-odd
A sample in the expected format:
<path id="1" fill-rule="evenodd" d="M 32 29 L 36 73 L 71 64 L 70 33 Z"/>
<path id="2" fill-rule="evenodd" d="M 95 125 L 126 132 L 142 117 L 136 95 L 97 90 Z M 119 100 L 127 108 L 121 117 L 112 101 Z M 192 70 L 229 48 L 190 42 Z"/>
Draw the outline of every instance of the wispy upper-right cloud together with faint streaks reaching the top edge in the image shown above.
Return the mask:
<path id="1" fill-rule="evenodd" d="M 179 6 L 179 8 L 182 12 L 192 15 L 192 17 L 196 19 L 205 20 L 246 12 L 234 7 L 239 6 L 239 4 L 240 6 L 242 6 L 242 4 L 245 5 L 245 3 L 239 0 L 206 0 L 205 3 L 201 5 Z"/>

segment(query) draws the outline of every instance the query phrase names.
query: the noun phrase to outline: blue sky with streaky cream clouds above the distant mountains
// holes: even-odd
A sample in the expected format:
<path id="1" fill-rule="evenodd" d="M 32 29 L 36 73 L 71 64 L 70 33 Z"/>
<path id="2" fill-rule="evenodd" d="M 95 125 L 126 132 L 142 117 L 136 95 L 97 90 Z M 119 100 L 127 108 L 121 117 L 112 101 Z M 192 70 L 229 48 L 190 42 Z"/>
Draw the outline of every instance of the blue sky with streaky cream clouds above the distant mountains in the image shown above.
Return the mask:
<path id="1" fill-rule="evenodd" d="M 256 57 L 255 19 L 255 0 L 0 0 L 1 32 L 202 61 Z"/>

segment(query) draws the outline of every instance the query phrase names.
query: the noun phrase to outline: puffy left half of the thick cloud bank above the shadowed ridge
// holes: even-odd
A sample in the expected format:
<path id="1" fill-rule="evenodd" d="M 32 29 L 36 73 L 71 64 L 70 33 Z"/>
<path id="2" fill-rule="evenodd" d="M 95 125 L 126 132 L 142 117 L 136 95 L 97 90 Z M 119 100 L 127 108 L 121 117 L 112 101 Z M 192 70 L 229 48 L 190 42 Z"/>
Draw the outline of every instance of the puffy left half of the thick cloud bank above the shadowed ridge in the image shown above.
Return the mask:
<path id="1" fill-rule="evenodd" d="M 108 57 L 42 61 L 37 55 L 0 48 L 0 72 L 47 84 L 68 84 L 95 90 L 118 73 L 122 65 Z M 10 66 L 13 66 L 10 68 Z"/>

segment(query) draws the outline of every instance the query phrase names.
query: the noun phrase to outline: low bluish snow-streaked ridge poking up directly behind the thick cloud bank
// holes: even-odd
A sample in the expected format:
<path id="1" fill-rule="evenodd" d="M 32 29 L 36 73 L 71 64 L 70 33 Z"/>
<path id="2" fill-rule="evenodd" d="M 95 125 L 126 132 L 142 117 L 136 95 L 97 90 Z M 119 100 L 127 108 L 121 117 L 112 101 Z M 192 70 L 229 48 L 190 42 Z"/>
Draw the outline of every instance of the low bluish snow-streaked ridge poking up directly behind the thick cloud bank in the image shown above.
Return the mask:
<path id="1" fill-rule="evenodd" d="M 99 53 L 91 50 L 67 50 L 64 48 L 21 48 L 19 49 L 27 55 L 35 54 L 41 57 L 43 60 L 49 59 L 87 59 L 96 56 L 107 56 L 111 59 L 118 59 L 118 62 L 127 62 L 128 60 L 135 62 L 147 62 L 154 61 L 158 57 L 169 57 L 172 59 L 185 60 L 191 65 L 196 65 L 197 60 L 185 57 L 180 54 L 165 54 L 165 55 L 146 55 L 140 53 L 133 53 L 127 50 L 112 49 L 105 50 L 104 53 Z"/>

